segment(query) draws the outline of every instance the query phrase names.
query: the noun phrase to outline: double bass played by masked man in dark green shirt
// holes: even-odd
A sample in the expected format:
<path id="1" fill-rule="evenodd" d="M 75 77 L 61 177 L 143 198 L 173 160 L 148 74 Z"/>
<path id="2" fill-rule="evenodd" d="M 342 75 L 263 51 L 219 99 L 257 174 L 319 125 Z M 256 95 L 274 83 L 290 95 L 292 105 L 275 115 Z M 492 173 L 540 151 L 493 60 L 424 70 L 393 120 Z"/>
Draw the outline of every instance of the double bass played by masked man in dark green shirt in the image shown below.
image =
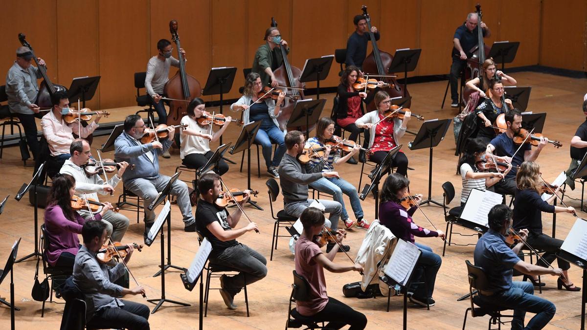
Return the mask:
<path id="1" fill-rule="evenodd" d="M 271 18 L 271 26 L 273 28 L 277 27 L 277 21 L 275 21 L 274 18 Z M 280 44 L 279 50 L 281 51 L 284 63 L 275 70 L 275 80 L 277 80 L 279 86 L 298 87 L 299 89 L 301 89 L 303 86 L 302 83 L 299 81 L 299 78 L 302 76 L 302 70 L 289 64 L 288 53 L 284 45 Z M 286 90 L 284 106 L 281 107 L 281 113 L 279 113 L 279 116 L 277 117 L 277 122 L 279 123 L 280 130 L 285 130 L 286 125 L 289 121 L 289 117 L 291 117 L 292 112 L 294 111 L 294 106 L 297 100 L 303 100 L 305 98 L 306 97 L 303 95 L 303 90 Z M 308 127 L 308 130 L 314 129 L 314 126 L 315 124 L 311 125 L 310 127 Z M 300 130 L 305 130 L 305 127 L 300 127 Z"/>

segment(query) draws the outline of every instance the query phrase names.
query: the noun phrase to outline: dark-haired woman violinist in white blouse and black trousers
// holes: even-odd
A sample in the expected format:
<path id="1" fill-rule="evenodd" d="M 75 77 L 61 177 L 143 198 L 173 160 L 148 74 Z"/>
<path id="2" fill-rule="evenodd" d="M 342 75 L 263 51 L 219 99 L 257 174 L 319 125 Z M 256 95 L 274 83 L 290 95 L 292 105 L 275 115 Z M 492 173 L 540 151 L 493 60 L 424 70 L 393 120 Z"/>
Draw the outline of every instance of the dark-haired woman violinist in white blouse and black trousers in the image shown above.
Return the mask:
<path id="1" fill-rule="evenodd" d="M 210 125 L 200 125 L 197 119 L 202 117 L 205 110 L 205 103 L 200 97 L 195 97 L 187 106 L 181 124 L 187 125 L 180 129 L 180 158 L 185 166 L 199 169 L 204 166 L 212 157 L 214 152 L 210 150 L 210 142 L 216 142 L 230 124 L 231 117 L 227 117 L 222 127 L 217 132 L 210 130 Z M 211 135 L 212 132 L 214 135 Z M 224 160 L 218 161 L 214 172 L 222 175 L 228 172 L 228 164 Z"/>

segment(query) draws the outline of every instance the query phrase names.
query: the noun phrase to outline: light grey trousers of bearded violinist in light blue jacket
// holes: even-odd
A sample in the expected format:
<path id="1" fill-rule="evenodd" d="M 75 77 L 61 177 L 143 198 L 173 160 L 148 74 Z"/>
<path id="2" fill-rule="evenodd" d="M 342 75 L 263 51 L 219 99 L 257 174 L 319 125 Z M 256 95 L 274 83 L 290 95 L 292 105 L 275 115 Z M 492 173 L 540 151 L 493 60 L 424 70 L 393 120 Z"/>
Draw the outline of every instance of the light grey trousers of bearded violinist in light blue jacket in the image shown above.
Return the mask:
<path id="1" fill-rule="evenodd" d="M 131 179 L 124 183 L 124 186 L 144 200 L 145 223 L 152 224 L 155 221 L 155 213 L 149 211 L 149 205 L 155 201 L 157 194 L 162 191 L 171 178 L 160 175 L 152 178 Z M 181 215 L 185 225 L 195 222 L 191 212 L 190 195 L 187 184 L 184 181 L 176 180 L 171 187 L 171 194 L 177 198 L 177 206 L 180 207 Z"/>

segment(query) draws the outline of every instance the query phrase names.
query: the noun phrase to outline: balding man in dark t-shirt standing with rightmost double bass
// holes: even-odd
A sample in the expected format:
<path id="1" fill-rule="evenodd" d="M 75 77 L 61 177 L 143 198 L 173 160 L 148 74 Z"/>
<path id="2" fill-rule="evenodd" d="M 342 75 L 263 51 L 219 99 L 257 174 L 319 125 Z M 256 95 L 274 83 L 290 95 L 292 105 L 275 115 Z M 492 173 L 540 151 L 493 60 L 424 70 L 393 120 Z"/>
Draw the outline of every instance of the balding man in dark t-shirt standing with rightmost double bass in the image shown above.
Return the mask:
<path id="1" fill-rule="evenodd" d="M 483 38 L 491 36 L 491 31 L 484 22 L 478 22 L 477 13 L 471 12 L 467 20 L 454 32 L 453 37 L 453 64 L 450 66 L 450 97 L 451 107 L 458 107 L 458 76 L 463 73 L 467 65 L 468 55 L 465 52 L 478 45 L 478 29 L 483 29 Z"/>

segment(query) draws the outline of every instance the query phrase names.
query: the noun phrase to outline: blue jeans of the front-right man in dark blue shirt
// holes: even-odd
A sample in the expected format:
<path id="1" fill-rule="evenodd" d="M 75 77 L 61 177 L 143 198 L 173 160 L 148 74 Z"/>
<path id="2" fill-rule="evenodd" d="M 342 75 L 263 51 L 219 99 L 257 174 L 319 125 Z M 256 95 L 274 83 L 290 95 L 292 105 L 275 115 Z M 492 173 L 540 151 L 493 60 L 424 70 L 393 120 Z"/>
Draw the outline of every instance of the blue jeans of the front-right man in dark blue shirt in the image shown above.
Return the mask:
<path id="1" fill-rule="evenodd" d="M 517 329 L 542 329 L 556 313 L 556 307 L 552 302 L 534 295 L 534 285 L 531 282 L 512 282 L 512 287 L 494 295 L 480 295 L 481 301 L 514 309 L 512 330 Z M 526 312 L 536 315 L 524 327 Z"/>

